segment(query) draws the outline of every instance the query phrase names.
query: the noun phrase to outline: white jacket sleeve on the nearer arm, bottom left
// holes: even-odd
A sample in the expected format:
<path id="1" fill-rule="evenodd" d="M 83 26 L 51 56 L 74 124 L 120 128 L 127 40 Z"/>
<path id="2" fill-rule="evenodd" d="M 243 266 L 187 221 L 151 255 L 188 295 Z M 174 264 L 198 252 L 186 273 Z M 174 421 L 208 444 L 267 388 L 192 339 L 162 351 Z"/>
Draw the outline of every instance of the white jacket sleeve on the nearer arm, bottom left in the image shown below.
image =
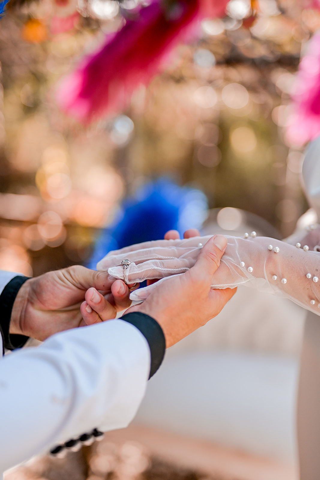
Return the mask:
<path id="1" fill-rule="evenodd" d="M 0 472 L 98 428 L 126 427 L 145 392 L 150 348 L 110 320 L 51 336 L 0 360 Z"/>

